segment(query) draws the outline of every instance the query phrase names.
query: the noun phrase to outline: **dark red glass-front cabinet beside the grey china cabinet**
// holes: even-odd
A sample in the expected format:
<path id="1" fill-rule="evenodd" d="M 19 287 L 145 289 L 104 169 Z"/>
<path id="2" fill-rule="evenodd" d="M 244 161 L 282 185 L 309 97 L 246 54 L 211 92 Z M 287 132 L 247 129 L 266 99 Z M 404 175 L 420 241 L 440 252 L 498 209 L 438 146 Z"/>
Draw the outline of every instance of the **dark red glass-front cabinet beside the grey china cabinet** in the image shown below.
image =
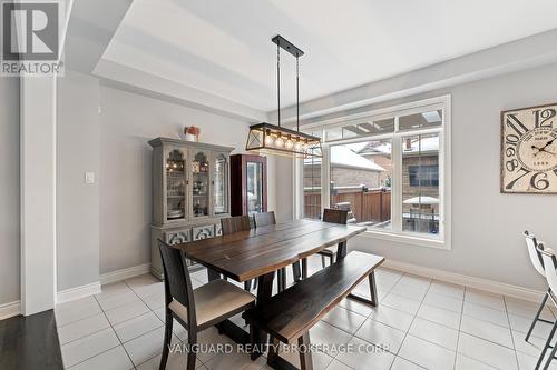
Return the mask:
<path id="1" fill-rule="evenodd" d="M 267 211 L 267 158 L 231 156 L 231 214 Z"/>

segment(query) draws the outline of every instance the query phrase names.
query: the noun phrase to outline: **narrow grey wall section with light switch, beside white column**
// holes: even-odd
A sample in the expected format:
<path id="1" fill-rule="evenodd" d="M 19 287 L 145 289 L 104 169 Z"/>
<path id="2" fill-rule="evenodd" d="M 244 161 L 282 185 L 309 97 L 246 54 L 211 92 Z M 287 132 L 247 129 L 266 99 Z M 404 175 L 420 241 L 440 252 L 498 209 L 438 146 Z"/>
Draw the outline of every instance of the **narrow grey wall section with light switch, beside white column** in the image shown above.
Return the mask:
<path id="1" fill-rule="evenodd" d="M 57 79 L 58 291 L 99 280 L 99 82 L 66 71 Z M 85 183 L 85 172 L 96 182 Z"/>

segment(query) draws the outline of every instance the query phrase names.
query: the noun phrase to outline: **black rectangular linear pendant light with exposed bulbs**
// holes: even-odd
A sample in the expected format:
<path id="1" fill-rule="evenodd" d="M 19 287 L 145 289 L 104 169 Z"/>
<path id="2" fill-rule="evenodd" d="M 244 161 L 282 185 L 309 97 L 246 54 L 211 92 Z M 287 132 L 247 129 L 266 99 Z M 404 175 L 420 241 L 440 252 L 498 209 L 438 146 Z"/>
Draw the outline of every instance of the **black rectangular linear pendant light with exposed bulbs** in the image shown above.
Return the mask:
<path id="1" fill-rule="evenodd" d="M 276 92 L 277 92 L 277 123 L 256 123 L 250 126 L 247 134 L 247 151 L 285 156 L 292 158 L 322 157 L 321 139 L 300 132 L 300 57 L 304 54 L 290 41 L 277 34 L 271 39 L 276 43 Z M 296 130 L 281 126 L 281 49 L 296 58 Z"/>

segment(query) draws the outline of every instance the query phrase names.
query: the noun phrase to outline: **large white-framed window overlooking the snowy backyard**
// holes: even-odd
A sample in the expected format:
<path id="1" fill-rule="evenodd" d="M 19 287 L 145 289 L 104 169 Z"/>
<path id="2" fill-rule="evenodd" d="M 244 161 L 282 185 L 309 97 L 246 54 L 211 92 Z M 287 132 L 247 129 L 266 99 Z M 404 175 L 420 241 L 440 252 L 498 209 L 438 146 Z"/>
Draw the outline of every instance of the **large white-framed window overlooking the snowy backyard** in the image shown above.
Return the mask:
<path id="1" fill-rule="evenodd" d="M 306 128 L 323 134 L 324 156 L 303 160 L 297 214 L 345 209 L 370 237 L 449 248 L 449 110 L 440 97 Z"/>

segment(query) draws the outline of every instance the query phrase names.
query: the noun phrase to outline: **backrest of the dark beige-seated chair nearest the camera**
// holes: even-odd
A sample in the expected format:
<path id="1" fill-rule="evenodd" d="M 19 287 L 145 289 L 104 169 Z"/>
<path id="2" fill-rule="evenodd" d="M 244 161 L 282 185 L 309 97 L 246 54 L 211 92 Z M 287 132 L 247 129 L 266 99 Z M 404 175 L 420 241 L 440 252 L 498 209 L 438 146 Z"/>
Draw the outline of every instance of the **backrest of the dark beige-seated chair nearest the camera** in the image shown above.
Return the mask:
<path id="1" fill-rule="evenodd" d="M 185 253 L 158 240 L 158 249 L 165 272 L 166 306 L 176 300 L 187 308 L 188 324 L 197 322 L 195 316 L 194 290 Z"/>

